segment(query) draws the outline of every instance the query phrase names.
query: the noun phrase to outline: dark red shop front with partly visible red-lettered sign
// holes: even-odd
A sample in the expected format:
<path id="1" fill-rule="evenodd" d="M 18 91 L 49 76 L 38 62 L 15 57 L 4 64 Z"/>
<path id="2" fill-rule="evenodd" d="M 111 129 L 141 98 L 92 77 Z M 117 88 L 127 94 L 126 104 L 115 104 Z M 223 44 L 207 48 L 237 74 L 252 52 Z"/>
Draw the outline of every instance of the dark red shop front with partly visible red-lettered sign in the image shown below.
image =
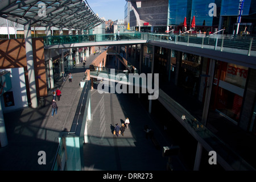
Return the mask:
<path id="1" fill-rule="evenodd" d="M 240 121 L 248 68 L 217 62 L 214 75 L 212 107 L 237 124 Z"/>

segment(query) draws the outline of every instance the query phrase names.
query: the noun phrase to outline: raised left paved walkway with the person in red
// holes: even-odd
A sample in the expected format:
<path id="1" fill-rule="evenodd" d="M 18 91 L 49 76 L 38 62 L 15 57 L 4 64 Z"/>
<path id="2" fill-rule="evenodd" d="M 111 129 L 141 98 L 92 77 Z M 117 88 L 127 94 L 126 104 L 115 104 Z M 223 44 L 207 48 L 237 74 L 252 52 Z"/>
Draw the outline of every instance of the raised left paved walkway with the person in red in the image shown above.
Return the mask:
<path id="1" fill-rule="evenodd" d="M 97 49 L 97 48 L 96 48 Z M 82 63 L 72 70 L 72 82 L 63 82 L 63 78 L 55 81 L 55 89 L 61 90 L 57 115 L 51 118 L 51 90 L 45 98 L 46 105 L 36 109 L 26 109 L 5 113 L 6 133 L 9 144 L 0 148 L 0 170 L 51 170 L 55 159 L 61 131 L 69 131 L 80 99 L 82 88 L 80 80 L 86 68 L 98 55 L 86 58 L 85 68 Z M 68 75 L 68 72 L 66 73 Z M 39 165 L 39 151 L 46 152 L 46 165 Z"/>

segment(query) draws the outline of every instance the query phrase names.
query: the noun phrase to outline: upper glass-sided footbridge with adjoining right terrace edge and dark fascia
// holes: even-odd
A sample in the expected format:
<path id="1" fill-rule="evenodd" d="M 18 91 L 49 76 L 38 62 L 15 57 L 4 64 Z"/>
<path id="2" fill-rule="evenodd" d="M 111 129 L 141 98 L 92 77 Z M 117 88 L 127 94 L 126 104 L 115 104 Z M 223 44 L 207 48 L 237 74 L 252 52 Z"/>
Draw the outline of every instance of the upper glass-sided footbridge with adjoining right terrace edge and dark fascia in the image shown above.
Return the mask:
<path id="1" fill-rule="evenodd" d="M 256 39 L 249 36 L 129 32 L 120 34 L 120 40 L 117 40 L 116 34 L 45 36 L 43 39 L 44 49 L 149 43 L 152 46 L 174 49 L 256 69 Z"/>

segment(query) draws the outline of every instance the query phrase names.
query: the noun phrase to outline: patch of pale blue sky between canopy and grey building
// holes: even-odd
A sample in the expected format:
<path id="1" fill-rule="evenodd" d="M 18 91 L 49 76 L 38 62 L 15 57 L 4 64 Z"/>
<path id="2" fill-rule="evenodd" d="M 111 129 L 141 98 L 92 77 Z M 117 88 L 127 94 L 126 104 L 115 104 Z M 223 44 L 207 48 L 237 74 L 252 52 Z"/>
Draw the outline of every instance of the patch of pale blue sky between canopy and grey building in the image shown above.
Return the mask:
<path id="1" fill-rule="evenodd" d="M 106 20 L 125 19 L 125 0 L 86 0 L 94 13 Z"/>

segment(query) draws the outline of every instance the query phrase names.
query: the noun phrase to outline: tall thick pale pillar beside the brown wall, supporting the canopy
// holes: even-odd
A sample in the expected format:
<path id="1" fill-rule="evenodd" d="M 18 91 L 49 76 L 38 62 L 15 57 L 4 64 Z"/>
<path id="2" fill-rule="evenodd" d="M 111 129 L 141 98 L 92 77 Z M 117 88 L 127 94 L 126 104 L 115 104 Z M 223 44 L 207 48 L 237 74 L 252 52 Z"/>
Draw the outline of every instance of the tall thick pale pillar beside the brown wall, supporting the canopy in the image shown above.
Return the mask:
<path id="1" fill-rule="evenodd" d="M 30 86 L 31 107 L 36 108 L 38 107 L 38 97 L 36 96 L 34 57 L 30 24 L 26 24 L 24 26 L 24 38 L 26 47 L 28 84 Z"/>

